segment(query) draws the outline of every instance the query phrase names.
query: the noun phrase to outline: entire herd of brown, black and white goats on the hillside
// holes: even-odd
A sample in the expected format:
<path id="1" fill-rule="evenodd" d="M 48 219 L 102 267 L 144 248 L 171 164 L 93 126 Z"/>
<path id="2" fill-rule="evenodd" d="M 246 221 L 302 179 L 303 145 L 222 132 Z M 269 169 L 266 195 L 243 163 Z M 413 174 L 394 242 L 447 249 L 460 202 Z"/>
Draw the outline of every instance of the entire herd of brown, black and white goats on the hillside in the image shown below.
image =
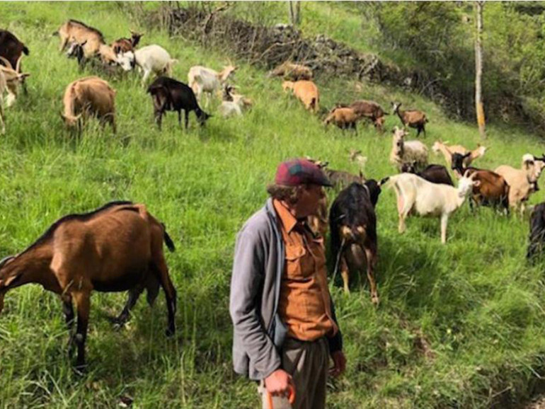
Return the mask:
<path id="1" fill-rule="evenodd" d="M 151 74 L 157 78 L 147 87 L 154 103 L 156 124 L 166 111 L 178 113 L 194 111 L 203 125 L 210 117 L 200 108 L 206 98 L 209 105 L 214 94 L 222 95 L 219 106 L 224 117 L 243 115 L 252 101 L 236 93 L 228 79 L 236 70 L 229 64 L 222 71 L 207 67 L 191 67 L 188 84 L 172 79 L 176 59 L 159 45 L 137 47 L 142 34 L 132 32 L 130 38 L 120 38 L 106 44 L 102 33 L 95 28 L 69 20 L 54 33 L 67 50 L 68 57 L 78 60 L 80 67 L 93 64 L 93 69 L 111 73 L 121 69 L 130 71 L 137 67 L 143 72 L 142 85 Z M 0 30 L 0 125 L 4 122 L 4 93 L 8 93 L 6 106 L 10 107 L 18 96 L 18 88 L 26 92 L 25 79 L 29 76 L 21 69 L 21 58 L 29 50 L 13 33 Z M 271 76 L 282 76 L 282 88 L 290 91 L 307 110 L 319 112 L 319 90 L 313 73 L 302 64 L 285 62 L 270 71 Z M 115 91 L 107 81 L 98 76 L 88 76 L 69 83 L 64 92 L 64 113 L 67 127 L 81 131 L 88 117 L 96 117 L 102 125 L 110 124 L 115 132 Z M 510 209 L 524 212 L 529 196 L 539 190 L 538 180 L 545 168 L 545 156 L 525 154 L 522 166 L 499 166 L 494 171 L 476 168 L 472 163 L 486 152 L 484 146 L 467 149 L 461 145 L 447 145 L 437 141 L 432 151 L 442 154 L 447 166 L 429 164 L 428 146 L 418 139 L 406 140 L 408 127 L 417 129 L 416 137 L 423 132 L 428 118 L 420 110 L 401 110 L 401 103 L 392 103 L 393 112 L 403 127 L 394 127 L 390 161 L 400 172 L 380 181 L 366 180 L 362 173 L 354 175 L 334 171 L 328 163 L 309 159 L 323 168 L 335 189 L 340 190 L 328 212 L 327 198 L 323 198 L 319 214 L 309 218 L 312 229 L 331 234 L 331 255 L 335 257 L 335 272 L 340 270 L 344 289 L 348 292 L 350 271 L 367 269 L 372 302 L 379 303 L 374 269 L 377 263 L 377 218 L 375 206 L 382 187 L 393 188 L 397 197 L 398 230 L 406 230 L 409 214 L 420 214 L 440 219 L 442 243 L 447 241 L 447 223 L 469 197 L 471 209 L 484 205 L 495 207 L 506 215 Z M 369 120 L 378 132 L 384 132 L 385 116 L 379 104 L 371 100 L 357 100 L 350 105 L 336 105 L 324 115 L 323 124 L 333 123 L 341 129 L 356 129 L 360 120 Z M 361 152 L 351 152 L 351 159 L 365 162 Z M 448 168 L 456 178 L 454 187 Z M 530 245 L 527 257 L 541 252 L 545 242 L 545 203 L 534 207 L 530 218 Z M 174 244 L 166 233 L 164 224 L 156 220 L 144 205 L 132 202 L 110 202 L 86 214 L 70 214 L 56 221 L 31 246 L 17 255 L 0 260 L 0 311 L 8 290 L 23 284 L 38 283 L 59 294 L 63 312 L 71 333 L 70 352 L 77 347 L 76 368 L 85 367 L 85 342 L 93 290 L 101 292 L 127 291 L 128 299 L 115 322 L 122 325 L 130 318 L 130 311 L 140 294 L 147 291 L 147 301 L 153 304 L 159 289 L 166 295 L 168 309 L 167 334 L 175 332 L 176 289 L 168 274 L 163 253 L 163 243 L 169 250 Z M 76 304 L 75 320 L 73 304 Z M 75 333 L 72 331 L 77 322 Z"/>

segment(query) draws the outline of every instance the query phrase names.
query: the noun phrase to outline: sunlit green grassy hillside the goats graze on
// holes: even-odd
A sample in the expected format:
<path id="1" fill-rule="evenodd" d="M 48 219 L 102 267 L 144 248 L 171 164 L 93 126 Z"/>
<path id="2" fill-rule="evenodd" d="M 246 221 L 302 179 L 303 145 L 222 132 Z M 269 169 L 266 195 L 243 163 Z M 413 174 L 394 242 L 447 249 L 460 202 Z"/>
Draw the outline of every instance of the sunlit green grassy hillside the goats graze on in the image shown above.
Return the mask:
<path id="1" fill-rule="evenodd" d="M 394 173 L 389 133 L 370 126 L 357 135 L 326 131 L 282 93 L 280 80 L 242 65 L 236 84 L 255 101 L 245 117 L 216 115 L 199 129 L 192 113 L 184 132 L 170 114 L 159 132 L 133 73 L 111 81 L 118 134 L 91 122 L 76 140 L 59 117 L 62 93 L 91 72 L 79 73 L 51 37 L 67 18 L 99 28 L 108 41 L 129 28 L 146 31 L 142 45 L 169 50 L 182 81 L 190 66 L 219 68 L 227 56 L 139 27 L 115 4 L 0 3 L 0 16 L 30 48 L 23 67 L 32 74 L 28 96 L 6 110 L 0 139 L 0 256 L 23 250 L 64 214 L 134 200 L 164 221 L 176 243 L 166 257 L 178 289 L 173 339 L 164 337 L 164 296 L 153 309 L 141 300 L 127 328 L 115 331 L 106 316 L 120 311 L 125 294 L 93 294 L 89 368 L 81 377 L 67 359 L 57 296 L 37 286 L 8 293 L 0 316 L 0 407 L 114 408 L 131 396 L 135 408 L 256 408 L 256 385 L 231 369 L 227 306 L 236 231 L 263 205 L 265 185 L 287 158 L 314 156 L 356 172 L 348 162 L 355 148 L 369 158 L 367 178 Z M 317 83 L 326 107 L 369 98 L 425 110 L 428 146 L 439 138 L 469 147 L 478 142 L 476 127 L 450 122 L 418 96 L 340 79 Z M 217 113 L 216 106 L 208 111 Z M 398 119 L 386 123 L 390 129 Z M 484 168 L 519 166 L 522 154 L 543 151 L 533 135 L 488 130 L 490 152 L 478 162 Z M 543 198 L 541 190 L 531 201 Z M 464 206 L 449 221 L 442 246 L 437 219 L 409 219 L 406 234 L 398 235 L 393 192 L 383 192 L 377 212 L 381 306 L 371 305 L 365 282 L 360 288 L 353 280 L 350 295 L 331 284 L 348 370 L 331 381 L 330 407 L 487 408 L 502 396 L 527 396 L 545 356 L 543 265 L 525 263 L 527 221 L 491 209 L 473 215 Z"/>

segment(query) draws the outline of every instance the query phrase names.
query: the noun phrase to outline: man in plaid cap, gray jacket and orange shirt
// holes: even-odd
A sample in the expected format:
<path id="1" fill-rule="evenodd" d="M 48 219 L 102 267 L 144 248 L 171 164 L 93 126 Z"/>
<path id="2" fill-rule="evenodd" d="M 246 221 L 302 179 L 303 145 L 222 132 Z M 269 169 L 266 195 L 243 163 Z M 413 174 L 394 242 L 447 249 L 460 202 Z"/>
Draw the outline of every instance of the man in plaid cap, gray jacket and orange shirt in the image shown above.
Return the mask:
<path id="1" fill-rule="evenodd" d="M 310 161 L 280 163 L 265 207 L 236 239 L 229 310 L 234 369 L 260 381 L 263 408 L 326 406 L 328 371 L 345 369 L 343 343 L 327 285 L 323 237 L 306 217 L 316 214 L 331 183 Z M 329 357 L 333 368 L 329 369 Z"/>

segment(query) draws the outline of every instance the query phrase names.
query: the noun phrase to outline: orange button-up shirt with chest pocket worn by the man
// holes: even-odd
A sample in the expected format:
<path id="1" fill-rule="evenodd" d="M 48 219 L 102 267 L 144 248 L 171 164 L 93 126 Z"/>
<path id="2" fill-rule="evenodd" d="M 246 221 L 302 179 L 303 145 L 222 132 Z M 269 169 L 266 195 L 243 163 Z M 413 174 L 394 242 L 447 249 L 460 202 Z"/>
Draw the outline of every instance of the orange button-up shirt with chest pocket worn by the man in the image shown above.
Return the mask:
<path id="1" fill-rule="evenodd" d="M 288 335 L 314 341 L 338 331 L 331 314 L 323 237 L 314 236 L 278 200 L 273 200 L 280 219 L 286 249 L 278 312 Z"/>

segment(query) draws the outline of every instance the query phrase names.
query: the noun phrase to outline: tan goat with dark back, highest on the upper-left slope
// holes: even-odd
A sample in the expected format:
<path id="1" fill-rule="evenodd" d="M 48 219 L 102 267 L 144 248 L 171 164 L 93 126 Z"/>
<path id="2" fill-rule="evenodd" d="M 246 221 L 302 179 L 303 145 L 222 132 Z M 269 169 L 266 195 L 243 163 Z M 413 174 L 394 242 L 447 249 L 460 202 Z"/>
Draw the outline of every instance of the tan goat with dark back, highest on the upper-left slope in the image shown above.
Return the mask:
<path id="1" fill-rule="evenodd" d="M 106 44 L 102 33 L 81 21 L 69 20 L 62 24 L 53 35 L 58 35 L 61 39 L 60 52 L 64 51 L 69 41 L 75 41 L 83 45 L 86 58 L 98 54 L 105 64 L 116 62 L 115 52 Z"/>

